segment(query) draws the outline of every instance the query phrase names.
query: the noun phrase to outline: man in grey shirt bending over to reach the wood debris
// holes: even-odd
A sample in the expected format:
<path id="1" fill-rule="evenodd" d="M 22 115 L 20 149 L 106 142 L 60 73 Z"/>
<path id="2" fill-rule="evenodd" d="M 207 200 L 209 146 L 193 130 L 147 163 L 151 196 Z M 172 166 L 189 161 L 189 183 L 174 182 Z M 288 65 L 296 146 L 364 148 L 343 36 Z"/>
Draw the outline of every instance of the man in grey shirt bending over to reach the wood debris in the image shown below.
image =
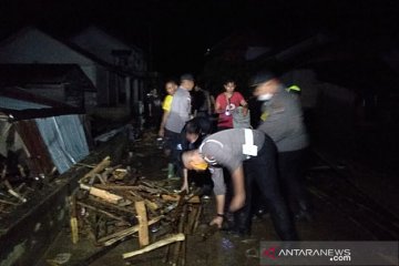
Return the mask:
<path id="1" fill-rule="evenodd" d="M 229 211 L 235 212 L 238 233 L 250 232 L 253 187 L 256 185 L 270 212 L 275 229 L 282 241 L 296 241 L 297 234 L 280 194 L 277 180 L 276 146 L 263 132 L 249 129 L 232 129 L 217 132 L 204 140 L 198 150 L 182 155 L 188 170 L 204 171 L 209 167 L 216 195 L 216 217 L 211 225 L 219 228 L 224 219 L 226 187 L 223 168 L 233 181 L 234 196 Z M 244 178 L 245 175 L 245 178 Z"/>

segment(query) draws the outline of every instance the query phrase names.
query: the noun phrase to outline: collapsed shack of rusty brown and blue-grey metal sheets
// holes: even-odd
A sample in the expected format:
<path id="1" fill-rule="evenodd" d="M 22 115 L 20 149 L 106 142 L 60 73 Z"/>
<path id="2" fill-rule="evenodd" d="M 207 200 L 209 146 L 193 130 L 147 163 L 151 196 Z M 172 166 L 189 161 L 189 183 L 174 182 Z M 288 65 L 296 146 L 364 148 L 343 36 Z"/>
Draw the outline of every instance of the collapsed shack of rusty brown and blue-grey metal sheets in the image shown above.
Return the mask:
<path id="1" fill-rule="evenodd" d="M 2 89 L 0 100 L 2 164 L 19 165 L 18 175 L 62 174 L 89 154 L 89 126 L 78 109 L 19 88 Z"/>

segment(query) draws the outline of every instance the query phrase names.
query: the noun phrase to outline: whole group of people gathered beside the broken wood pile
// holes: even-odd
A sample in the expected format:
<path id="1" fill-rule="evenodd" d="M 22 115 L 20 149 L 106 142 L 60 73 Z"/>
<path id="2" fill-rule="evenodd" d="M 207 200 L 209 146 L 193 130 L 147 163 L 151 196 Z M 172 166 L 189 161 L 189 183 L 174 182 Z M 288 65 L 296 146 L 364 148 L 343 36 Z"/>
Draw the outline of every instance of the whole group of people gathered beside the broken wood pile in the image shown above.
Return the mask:
<path id="1" fill-rule="evenodd" d="M 253 110 L 235 91 L 234 80 L 224 82 L 225 91 L 217 95 L 213 111 L 197 109 L 195 116 L 191 96 L 194 86 L 191 74 L 182 75 L 180 85 L 166 82 L 168 95 L 158 134 L 165 139 L 170 156 L 168 177 L 182 177 L 182 190 L 188 190 L 191 172 L 202 173 L 194 176 L 203 186 L 209 186 L 207 178 L 212 178 L 216 198 L 212 225 L 222 227 L 229 212 L 234 213 L 234 223 L 228 229 L 249 234 L 254 208 L 266 206 L 278 236 L 283 241 L 298 239 L 294 219 L 311 218 L 304 181 L 309 143 L 298 95 L 269 71 L 255 74 L 249 88 L 259 110 L 254 112 L 258 114 L 257 127 L 252 129 Z M 213 113 L 218 117 L 216 130 L 209 122 Z M 229 193 L 231 198 L 226 197 Z"/>

